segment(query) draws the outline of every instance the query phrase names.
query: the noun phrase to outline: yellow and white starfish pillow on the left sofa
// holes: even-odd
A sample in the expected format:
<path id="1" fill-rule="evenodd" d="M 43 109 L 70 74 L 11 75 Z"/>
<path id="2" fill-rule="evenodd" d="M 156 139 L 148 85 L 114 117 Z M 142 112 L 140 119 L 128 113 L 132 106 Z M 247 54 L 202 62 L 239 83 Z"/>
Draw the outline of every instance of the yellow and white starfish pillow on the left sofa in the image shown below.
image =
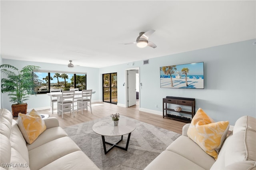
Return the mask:
<path id="1" fill-rule="evenodd" d="M 32 109 L 27 115 L 18 114 L 18 126 L 28 144 L 32 144 L 38 136 L 46 130 L 41 115 Z"/>

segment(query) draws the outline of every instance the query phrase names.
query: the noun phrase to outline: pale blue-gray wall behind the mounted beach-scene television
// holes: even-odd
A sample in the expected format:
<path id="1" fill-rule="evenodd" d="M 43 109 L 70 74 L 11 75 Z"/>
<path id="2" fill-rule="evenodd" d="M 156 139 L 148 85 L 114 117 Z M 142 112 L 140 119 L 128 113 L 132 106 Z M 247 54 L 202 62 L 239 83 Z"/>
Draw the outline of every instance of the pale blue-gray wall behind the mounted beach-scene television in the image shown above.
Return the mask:
<path id="1" fill-rule="evenodd" d="M 104 67 L 100 68 L 100 75 L 117 72 L 118 104 L 125 105 L 125 69 L 140 67 L 141 111 L 162 114 L 163 97 L 191 97 L 196 99 L 196 110 L 201 107 L 215 121 L 230 121 L 234 125 L 243 115 L 256 117 L 256 45 L 252 44 L 255 41 L 156 57 L 149 59 L 148 65 L 143 65 L 143 61 L 135 61 L 134 65 L 126 63 Z M 161 66 L 202 61 L 204 89 L 160 88 Z"/>

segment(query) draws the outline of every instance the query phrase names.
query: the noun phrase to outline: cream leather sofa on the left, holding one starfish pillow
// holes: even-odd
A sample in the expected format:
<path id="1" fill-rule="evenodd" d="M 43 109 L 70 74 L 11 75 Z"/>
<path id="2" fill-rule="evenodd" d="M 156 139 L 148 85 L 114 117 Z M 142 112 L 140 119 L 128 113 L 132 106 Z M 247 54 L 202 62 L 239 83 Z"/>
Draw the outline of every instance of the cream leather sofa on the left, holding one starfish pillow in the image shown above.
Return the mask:
<path id="1" fill-rule="evenodd" d="M 58 119 L 44 119 L 46 130 L 26 143 L 7 109 L 0 109 L 0 169 L 82 170 L 99 169 L 59 127 Z"/>

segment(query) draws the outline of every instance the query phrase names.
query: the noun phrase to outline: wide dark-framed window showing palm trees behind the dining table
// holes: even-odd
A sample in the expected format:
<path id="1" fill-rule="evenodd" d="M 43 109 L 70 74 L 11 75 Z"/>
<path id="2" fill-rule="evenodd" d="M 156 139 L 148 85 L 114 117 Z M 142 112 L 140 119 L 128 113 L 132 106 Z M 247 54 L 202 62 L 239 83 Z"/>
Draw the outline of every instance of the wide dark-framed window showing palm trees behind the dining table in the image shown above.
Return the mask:
<path id="1" fill-rule="evenodd" d="M 68 72 L 34 72 L 38 75 L 41 82 L 36 86 L 36 93 L 49 93 L 50 89 L 69 90 L 79 88 L 86 89 L 86 73 L 68 73 Z M 75 83 L 74 83 L 75 82 Z"/>

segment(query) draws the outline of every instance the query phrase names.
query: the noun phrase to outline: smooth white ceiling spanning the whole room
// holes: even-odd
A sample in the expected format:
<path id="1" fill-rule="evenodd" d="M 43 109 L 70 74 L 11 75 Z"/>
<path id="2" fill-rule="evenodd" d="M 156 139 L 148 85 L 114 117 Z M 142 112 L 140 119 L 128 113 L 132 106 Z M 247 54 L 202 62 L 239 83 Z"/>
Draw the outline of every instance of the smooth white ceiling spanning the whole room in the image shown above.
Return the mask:
<path id="1" fill-rule="evenodd" d="M 3 59 L 99 68 L 256 38 L 255 0 L 0 3 Z M 154 49 L 120 44 L 151 29 Z"/>

